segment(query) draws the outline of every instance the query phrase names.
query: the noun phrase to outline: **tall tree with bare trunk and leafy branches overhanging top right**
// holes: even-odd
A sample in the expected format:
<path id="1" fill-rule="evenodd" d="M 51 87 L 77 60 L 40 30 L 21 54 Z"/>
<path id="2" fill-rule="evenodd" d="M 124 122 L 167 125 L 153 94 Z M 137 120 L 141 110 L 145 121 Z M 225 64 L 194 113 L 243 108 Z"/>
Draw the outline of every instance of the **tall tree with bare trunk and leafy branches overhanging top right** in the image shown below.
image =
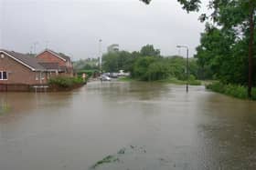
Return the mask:
<path id="1" fill-rule="evenodd" d="M 149 4 L 151 0 L 141 0 Z M 198 11 L 200 0 L 177 0 L 183 8 L 190 11 Z M 253 82 L 253 56 L 254 56 L 254 32 L 255 32 L 255 0 L 209 0 L 208 8 L 213 12 L 210 15 L 202 14 L 201 21 L 210 20 L 222 30 L 233 31 L 237 39 L 248 39 L 248 96 L 251 97 Z"/>

